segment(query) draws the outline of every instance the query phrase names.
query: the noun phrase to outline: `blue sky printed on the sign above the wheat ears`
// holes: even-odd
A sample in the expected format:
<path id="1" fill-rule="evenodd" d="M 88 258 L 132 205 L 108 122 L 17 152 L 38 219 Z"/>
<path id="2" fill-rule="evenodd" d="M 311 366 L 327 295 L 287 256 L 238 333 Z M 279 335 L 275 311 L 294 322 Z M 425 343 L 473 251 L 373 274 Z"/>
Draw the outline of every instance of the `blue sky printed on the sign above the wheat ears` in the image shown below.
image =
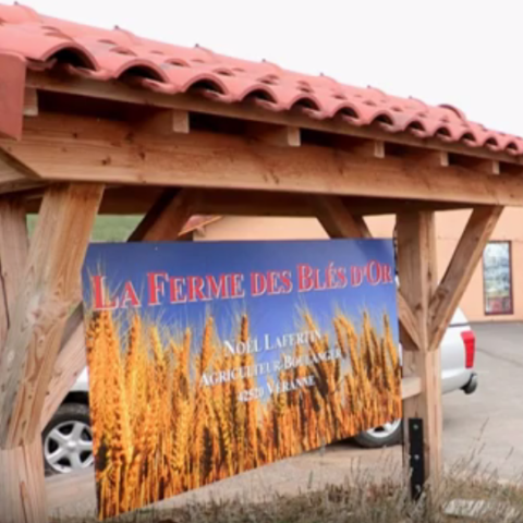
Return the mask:
<path id="1" fill-rule="evenodd" d="M 297 332 L 303 328 L 301 311 L 311 312 L 323 332 L 333 339 L 331 319 L 338 311 L 345 313 L 357 326 L 364 311 L 369 312 L 373 323 L 381 329 L 382 315 L 390 317 L 394 340 L 398 343 L 396 314 L 396 287 L 370 285 L 330 291 L 297 292 L 299 264 L 309 264 L 325 269 L 333 263 L 337 267 L 364 266 L 368 260 L 378 260 L 393 266 L 392 242 L 389 240 L 336 240 L 312 242 L 206 242 L 206 243 L 129 243 L 93 244 L 84 265 L 84 300 L 92 303 L 89 275 L 107 277 L 111 291 L 122 289 L 131 280 L 143 299 L 139 313 L 172 332 L 183 332 L 191 326 L 199 346 L 202 329 L 207 314 L 216 318 L 217 333 L 221 340 L 234 341 L 238 336 L 238 318 L 247 313 L 251 336 L 262 341 L 265 335 L 271 340 L 283 333 Z M 147 272 L 166 271 L 170 276 L 203 276 L 253 271 L 292 270 L 294 291 L 291 294 L 253 297 L 246 292 L 244 299 L 146 306 Z M 393 275 L 393 271 L 392 271 Z M 248 278 L 245 284 L 250 290 Z M 126 317 L 126 312 L 120 312 Z M 273 360 L 276 353 L 260 353 L 258 362 Z M 278 356 L 277 356 L 278 358 Z"/>

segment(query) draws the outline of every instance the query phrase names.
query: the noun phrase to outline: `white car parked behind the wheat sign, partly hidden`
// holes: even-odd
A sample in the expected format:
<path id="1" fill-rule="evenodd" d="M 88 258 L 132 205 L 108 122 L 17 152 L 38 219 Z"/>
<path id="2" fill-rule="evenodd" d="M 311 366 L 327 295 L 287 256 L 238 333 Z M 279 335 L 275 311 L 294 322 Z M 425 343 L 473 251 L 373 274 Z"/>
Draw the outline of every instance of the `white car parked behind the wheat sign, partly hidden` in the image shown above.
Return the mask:
<path id="1" fill-rule="evenodd" d="M 458 309 L 441 341 L 442 392 L 477 388 L 474 372 L 475 336 L 464 314 Z M 362 447 L 387 447 L 400 442 L 402 423 L 398 419 L 357 435 Z M 76 471 L 93 465 L 93 433 L 89 425 L 87 369 L 57 411 L 44 435 L 44 457 L 49 474 Z"/>

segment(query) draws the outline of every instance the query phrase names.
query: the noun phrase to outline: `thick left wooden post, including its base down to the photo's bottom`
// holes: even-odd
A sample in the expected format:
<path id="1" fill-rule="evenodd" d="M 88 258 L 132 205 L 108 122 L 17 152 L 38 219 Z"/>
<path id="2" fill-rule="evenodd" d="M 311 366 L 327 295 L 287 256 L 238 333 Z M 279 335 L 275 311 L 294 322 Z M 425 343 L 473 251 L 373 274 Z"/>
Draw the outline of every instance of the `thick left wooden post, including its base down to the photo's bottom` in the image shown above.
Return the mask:
<path id="1" fill-rule="evenodd" d="M 0 361 L 2 523 L 47 521 L 40 413 L 102 185 L 46 191 Z"/>

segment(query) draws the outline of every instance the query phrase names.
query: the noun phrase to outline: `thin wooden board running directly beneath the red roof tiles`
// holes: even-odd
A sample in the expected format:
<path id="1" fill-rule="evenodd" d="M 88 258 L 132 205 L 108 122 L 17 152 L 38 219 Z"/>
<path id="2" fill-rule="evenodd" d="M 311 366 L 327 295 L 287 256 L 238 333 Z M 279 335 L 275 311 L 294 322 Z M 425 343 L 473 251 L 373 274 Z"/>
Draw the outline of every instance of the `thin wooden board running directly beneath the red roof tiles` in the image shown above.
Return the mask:
<path id="1" fill-rule="evenodd" d="M 355 136 L 368 139 L 381 139 L 386 143 L 463 154 L 477 158 L 502 160 L 508 163 L 522 163 L 521 158 L 508 153 L 497 153 L 486 147 L 475 147 L 463 143 L 447 143 L 437 137 L 421 138 L 411 133 L 390 133 L 379 126 L 357 126 L 348 124 L 341 117 L 333 119 L 314 119 L 297 111 L 267 111 L 256 105 L 223 104 L 209 100 L 194 94 L 155 93 L 148 89 L 137 89 L 134 86 L 118 82 L 99 82 L 89 78 L 71 78 L 51 75 L 47 72 L 27 71 L 27 85 L 38 89 L 75 95 L 87 98 L 134 104 L 139 106 L 181 109 L 190 112 L 200 112 L 234 119 L 266 122 L 271 124 L 291 125 L 311 129 L 325 133 Z"/>

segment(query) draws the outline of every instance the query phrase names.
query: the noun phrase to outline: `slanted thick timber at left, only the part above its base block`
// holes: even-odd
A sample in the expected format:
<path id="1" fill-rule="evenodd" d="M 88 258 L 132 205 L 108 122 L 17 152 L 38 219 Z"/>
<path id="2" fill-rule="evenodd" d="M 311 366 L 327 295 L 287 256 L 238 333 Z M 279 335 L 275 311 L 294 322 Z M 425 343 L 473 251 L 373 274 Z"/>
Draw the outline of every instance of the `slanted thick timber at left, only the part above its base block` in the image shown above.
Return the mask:
<path id="1" fill-rule="evenodd" d="M 0 362 L 0 447 L 39 437 L 45 394 L 101 193 L 101 185 L 84 184 L 46 192 Z"/>

